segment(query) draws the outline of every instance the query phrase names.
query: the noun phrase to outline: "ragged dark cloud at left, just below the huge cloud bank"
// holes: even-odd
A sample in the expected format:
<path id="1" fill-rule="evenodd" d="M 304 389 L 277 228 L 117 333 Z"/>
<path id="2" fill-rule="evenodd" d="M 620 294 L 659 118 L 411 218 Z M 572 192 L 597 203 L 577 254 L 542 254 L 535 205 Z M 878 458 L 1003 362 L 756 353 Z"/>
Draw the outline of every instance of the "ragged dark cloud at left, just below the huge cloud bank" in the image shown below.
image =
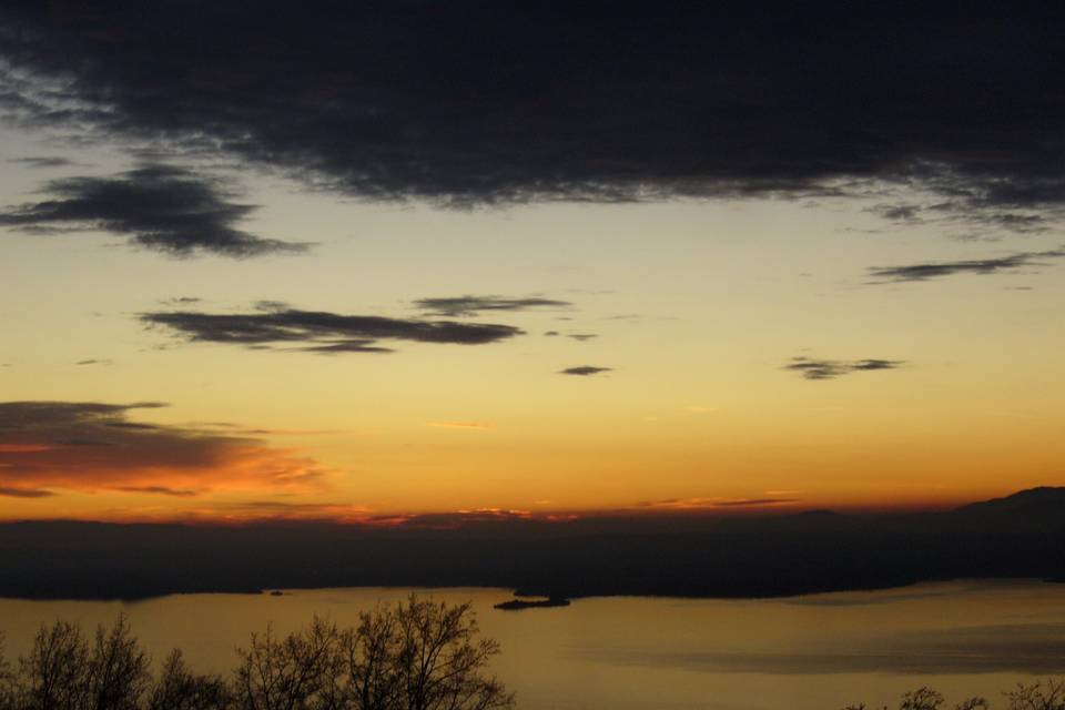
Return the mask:
<path id="1" fill-rule="evenodd" d="M 39 202 L 0 212 L 0 226 L 34 234 L 103 230 L 176 256 L 258 256 L 306 248 L 236 229 L 255 207 L 231 202 L 219 181 L 181 168 L 149 165 L 112 178 L 63 178 L 45 183 L 43 192 L 45 199 Z"/>

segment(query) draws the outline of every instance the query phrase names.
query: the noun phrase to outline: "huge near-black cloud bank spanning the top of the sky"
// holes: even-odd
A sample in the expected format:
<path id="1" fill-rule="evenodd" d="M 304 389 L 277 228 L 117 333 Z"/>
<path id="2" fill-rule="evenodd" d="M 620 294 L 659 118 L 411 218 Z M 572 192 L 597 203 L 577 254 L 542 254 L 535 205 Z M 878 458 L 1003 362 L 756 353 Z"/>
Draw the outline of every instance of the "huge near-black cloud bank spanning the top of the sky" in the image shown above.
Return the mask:
<path id="1" fill-rule="evenodd" d="M 1065 203 L 1057 3 L 7 3 L 13 120 L 452 204 Z"/>

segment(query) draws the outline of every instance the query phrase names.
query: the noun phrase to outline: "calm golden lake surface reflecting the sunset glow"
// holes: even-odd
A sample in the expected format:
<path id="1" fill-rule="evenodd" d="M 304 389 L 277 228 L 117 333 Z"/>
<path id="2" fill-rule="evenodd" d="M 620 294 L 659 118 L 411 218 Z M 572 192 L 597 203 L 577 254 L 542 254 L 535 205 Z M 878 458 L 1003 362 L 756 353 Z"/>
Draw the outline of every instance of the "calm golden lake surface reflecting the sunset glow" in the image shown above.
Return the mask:
<path id="1" fill-rule="evenodd" d="M 187 595 L 139 602 L 0 599 L 8 656 L 57 618 L 85 627 L 124 611 L 162 658 L 178 646 L 199 670 L 226 671 L 252 630 L 313 615 L 342 625 L 406 589 L 295 590 L 283 597 Z M 1065 585 L 950 582 L 774 600 L 594 598 L 505 612 L 496 589 L 419 594 L 471 601 L 503 645 L 495 670 L 525 710 L 548 708 L 826 709 L 894 706 L 927 684 L 949 701 L 1065 674 Z"/>

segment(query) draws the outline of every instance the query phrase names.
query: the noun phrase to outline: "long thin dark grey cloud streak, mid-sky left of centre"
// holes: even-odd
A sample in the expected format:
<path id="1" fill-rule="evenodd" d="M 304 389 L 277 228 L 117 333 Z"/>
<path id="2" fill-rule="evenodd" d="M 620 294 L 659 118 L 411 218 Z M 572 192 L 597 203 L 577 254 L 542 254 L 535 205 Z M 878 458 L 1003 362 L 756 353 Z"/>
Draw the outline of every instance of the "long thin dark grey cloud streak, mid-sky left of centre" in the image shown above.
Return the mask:
<path id="1" fill-rule="evenodd" d="M 191 311 L 142 313 L 143 323 L 165 327 L 190 341 L 275 347 L 295 345 L 313 353 L 387 353 L 378 341 L 483 345 L 523 335 L 510 325 L 342 315 L 297 311 L 273 302 L 257 313 Z"/>

